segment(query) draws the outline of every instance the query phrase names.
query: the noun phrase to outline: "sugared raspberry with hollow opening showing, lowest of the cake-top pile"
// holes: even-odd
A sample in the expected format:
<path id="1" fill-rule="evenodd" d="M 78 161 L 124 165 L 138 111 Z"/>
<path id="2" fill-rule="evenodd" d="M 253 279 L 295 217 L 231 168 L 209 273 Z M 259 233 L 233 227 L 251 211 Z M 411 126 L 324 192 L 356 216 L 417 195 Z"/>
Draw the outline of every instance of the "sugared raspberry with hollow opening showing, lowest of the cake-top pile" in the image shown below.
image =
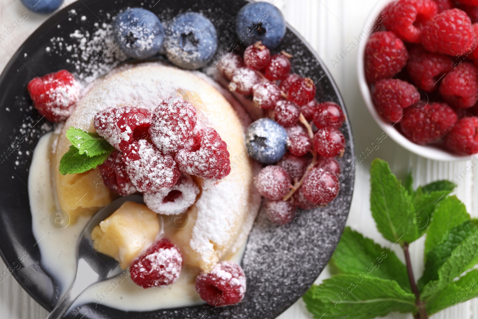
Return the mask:
<path id="1" fill-rule="evenodd" d="M 159 192 L 144 193 L 143 199 L 149 209 L 158 214 L 178 215 L 196 203 L 199 187 L 191 176 L 182 173 L 176 185 Z"/>

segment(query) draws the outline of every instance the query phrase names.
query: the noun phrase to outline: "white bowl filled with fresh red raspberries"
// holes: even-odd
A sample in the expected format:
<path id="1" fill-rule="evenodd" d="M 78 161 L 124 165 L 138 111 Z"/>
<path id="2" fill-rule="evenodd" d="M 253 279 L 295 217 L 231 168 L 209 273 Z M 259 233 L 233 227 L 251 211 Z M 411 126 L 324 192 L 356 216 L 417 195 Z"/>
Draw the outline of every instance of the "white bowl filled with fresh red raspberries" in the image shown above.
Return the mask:
<path id="1" fill-rule="evenodd" d="M 478 0 L 383 0 L 359 39 L 358 77 L 381 129 L 440 161 L 478 153 Z"/>

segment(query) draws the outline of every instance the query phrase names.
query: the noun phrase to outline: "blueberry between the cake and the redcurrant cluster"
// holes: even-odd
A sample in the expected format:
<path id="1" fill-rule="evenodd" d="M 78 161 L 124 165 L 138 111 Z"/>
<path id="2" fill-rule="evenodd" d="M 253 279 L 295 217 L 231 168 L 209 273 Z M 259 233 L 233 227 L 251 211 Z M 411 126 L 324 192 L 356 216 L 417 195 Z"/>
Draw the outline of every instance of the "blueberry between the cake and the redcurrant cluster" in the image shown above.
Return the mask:
<path id="1" fill-rule="evenodd" d="M 246 147 L 249 155 L 258 162 L 272 164 L 284 156 L 287 132 L 271 119 L 262 118 L 252 122 L 246 132 Z"/>

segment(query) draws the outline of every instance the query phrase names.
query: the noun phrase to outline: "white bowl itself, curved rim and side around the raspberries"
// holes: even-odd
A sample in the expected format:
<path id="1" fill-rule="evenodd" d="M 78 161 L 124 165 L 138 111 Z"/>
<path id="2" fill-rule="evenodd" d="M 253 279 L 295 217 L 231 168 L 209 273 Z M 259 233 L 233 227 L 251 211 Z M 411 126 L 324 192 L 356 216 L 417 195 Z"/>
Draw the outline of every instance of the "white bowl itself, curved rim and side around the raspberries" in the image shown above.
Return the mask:
<path id="1" fill-rule="evenodd" d="M 370 30 L 369 28 L 374 28 L 377 21 L 377 18 L 380 17 L 381 11 L 389 4 L 392 0 L 381 0 L 374 9 L 370 12 L 367 20 L 365 21 L 364 27 L 362 30 Z M 376 28 L 376 26 L 375 26 Z M 365 31 L 367 33 L 367 31 Z M 362 33 L 363 34 L 363 33 Z M 369 85 L 365 79 L 365 66 L 364 66 L 364 55 L 365 55 L 365 45 L 369 39 L 371 33 L 367 34 L 366 38 L 359 43 L 359 54 L 357 56 L 357 75 L 359 79 L 359 87 L 362 92 L 365 105 L 369 109 L 370 114 L 373 119 L 379 124 L 380 128 L 387 133 L 395 142 L 399 143 L 402 147 L 413 152 L 417 155 L 437 160 L 437 161 L 466 161 L 471 159 L 474 155 L 456 155 L 450 152 L 447 152 L 443 149 L 435 147 L 433 145 L 418 145 L 408 140 L 405 136 L 402 135 L 399 131 L 392 126 L 392 124 L 383 121 L 380 118 L 379 113 L 375 110 L 373 104 L 372 95 L 370 92 Z M 357 37 L 359 38 L 359 36 Z M 398 123 L 396 125 L 399 125 Z"/>

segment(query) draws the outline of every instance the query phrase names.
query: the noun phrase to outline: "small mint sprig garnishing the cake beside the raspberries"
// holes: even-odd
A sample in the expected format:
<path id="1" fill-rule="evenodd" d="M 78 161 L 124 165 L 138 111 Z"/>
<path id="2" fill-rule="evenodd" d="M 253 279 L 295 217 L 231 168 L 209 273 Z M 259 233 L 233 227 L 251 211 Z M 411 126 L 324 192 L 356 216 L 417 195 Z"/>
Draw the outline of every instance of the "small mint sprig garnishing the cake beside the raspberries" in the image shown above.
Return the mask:
<path id="1" fill-rule="evenodd" d="M 72 145 L 60 160 L 59 170 L 62 175 L 84 173 L 94 169 L 103 164 L 114 151 L 113 146 L 98 134 L 70 127 L 65 136 Z"/>

